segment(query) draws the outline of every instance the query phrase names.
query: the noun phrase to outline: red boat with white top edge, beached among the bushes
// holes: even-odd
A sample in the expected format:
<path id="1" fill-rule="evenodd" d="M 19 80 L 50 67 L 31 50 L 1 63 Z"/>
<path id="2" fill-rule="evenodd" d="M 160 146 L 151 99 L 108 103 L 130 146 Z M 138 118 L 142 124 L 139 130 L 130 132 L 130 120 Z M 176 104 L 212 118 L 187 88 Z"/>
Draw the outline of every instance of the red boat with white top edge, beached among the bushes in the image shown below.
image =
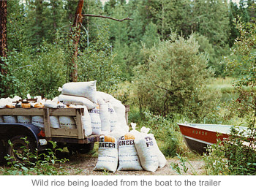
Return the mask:
<path id="1" fill-rule="evenodd" d="M 187 147 L 191 151 L 203 154 L 207 145 L 213 145 L 218 140 L 225 140 L 230 136 L 231 129 L 235 126 L 201 124 L 201 123 L 178 123 L 181 134 Z M 245 126 L 236 126 L 239 131 L 246 131 Z"/>

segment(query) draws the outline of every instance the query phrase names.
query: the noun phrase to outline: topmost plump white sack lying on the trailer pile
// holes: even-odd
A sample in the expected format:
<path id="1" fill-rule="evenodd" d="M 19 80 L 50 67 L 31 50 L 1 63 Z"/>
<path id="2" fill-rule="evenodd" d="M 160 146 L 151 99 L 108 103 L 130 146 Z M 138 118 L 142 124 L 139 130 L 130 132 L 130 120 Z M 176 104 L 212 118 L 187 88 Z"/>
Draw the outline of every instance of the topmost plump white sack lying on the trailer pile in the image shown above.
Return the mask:
<path id="1" fill-rule="evenodd" d="M 66 83 L 62 86 L 61 94 L 85 97 L 91 100 L 91 102 L 94 102 L 97 104 L 96 82 L 97 80 L 90 81 L 90 82 Z"/>

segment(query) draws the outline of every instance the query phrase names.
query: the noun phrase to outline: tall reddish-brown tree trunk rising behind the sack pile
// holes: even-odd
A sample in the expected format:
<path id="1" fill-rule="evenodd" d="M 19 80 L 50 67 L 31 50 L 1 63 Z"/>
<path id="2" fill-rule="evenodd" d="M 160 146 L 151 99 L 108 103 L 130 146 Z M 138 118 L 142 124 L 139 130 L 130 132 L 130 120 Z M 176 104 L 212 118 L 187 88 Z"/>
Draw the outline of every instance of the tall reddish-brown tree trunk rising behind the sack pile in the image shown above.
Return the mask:
<path id="1" fill-rule="evenodd" d="M 72 26 L 71 39 L 72 39 L 72 58 L 70 63 L 70 82 L 78 81 L 78 42 L 80 39 L 80 24 L 82 23 L 83 0 L 78 1 L 78 7 L 75 12 L 75 19 Z"/>

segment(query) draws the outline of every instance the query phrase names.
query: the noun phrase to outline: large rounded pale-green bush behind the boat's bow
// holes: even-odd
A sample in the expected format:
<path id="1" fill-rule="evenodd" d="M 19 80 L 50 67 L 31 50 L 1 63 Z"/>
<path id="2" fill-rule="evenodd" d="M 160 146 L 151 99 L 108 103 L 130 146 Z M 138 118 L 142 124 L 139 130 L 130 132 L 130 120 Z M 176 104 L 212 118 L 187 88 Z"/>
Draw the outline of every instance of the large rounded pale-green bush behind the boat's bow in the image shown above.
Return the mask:
<path id="1" fill-rule="evenodd" d="M 135 67 L 135 93 L 140 108 L 168 115 L 184 113 L 200 119 L 213 112 L 216 94 L 207 91 L 212 71 L 198 52 L 194 37 L 172 34 L 169 41 L 143 48 L 143 64 Z"/>

